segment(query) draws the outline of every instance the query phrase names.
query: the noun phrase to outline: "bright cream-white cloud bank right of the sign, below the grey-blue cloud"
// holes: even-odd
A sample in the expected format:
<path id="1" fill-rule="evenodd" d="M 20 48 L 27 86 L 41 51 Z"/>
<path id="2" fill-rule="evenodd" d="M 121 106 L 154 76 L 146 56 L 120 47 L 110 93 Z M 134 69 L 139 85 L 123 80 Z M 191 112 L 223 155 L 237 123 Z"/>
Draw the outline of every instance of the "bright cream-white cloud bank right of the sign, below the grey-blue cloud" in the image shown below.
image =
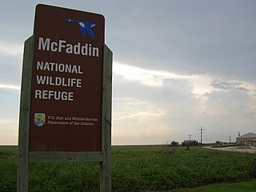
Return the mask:
<path id="1" fill-rule="evenodd" d="M 235 137 L 237 130 L 230 131 L 230 128 L 234 124 L 244 125 L 248 113 L 255 113 L 250 107 L 254 103 L 254 92 L 255 86 L 249 82 L 210 74 L 182 75 L 145 70 L 114 62 L 114 142 L 120 141 L 119 138 L 126 143 L 138 141 L 138 135 L 158 143 L 180 141 L 186 139 L 187 134 L 199 140 L 200 126 L 206 126 L 208 142 L 224 139 L 225 133 Z M 247 98 L 250 102 L 241 106 Z M 230 110 L 238 113 L 230 114 Z M 228 116 L 225 123 L 218 125 L 224 129 L 223 135 L 217 133 L 217 138 L 212 137 L 212 130 L 218 128 L 214 122 L 221 122 Z M 162 127 L 161 133 L 154 135 L 153 130 L 158 131 L 159 127 Z"/>

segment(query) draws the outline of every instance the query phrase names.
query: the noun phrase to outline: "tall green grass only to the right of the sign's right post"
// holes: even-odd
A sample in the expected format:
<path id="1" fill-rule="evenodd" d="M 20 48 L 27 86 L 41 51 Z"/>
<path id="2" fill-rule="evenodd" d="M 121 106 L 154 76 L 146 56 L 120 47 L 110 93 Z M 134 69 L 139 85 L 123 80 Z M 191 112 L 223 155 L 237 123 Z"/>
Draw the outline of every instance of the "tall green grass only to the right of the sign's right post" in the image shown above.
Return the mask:
<path id="1" fill-rule="evenodd" d="M 254 158 L 253 154 L 162 146 L 122 147 L 113 152 L 113 179 L 118 180 L 114 188 L 127 186 L 122 185 L 122 179 L 131 183 L 122 191 L 170 190 L 246 180 L 251 177 Z"/>

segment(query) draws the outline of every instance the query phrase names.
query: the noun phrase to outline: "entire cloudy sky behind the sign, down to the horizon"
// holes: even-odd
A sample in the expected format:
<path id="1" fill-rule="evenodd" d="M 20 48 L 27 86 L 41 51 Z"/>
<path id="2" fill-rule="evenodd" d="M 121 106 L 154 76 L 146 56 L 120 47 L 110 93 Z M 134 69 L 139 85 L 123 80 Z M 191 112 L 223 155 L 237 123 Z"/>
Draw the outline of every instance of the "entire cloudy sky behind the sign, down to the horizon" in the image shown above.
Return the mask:
<path id="1" fill-rule="evenodd" d="M 23 43 L 39 3 L 102 14 L 113 51 L 112 144 L 256 134 L 256 1 L 0 2 L 0 145 L 17 145 Z"/>

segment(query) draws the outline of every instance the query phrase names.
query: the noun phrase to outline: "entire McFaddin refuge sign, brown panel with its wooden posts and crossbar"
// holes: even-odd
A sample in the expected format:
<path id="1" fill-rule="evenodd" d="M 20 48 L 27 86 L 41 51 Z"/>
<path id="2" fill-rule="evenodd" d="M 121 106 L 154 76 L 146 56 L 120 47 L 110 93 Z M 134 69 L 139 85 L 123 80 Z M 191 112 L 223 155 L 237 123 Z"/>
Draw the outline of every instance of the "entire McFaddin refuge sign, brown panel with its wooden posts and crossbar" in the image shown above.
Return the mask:
<path id="1" fill-rule="evenodd" d="M 18 142 L 18 188 L 29 162 L 101 162 L 111 191 L 112 52 L 104 18 L 38 5 L 25 42 Z"/>

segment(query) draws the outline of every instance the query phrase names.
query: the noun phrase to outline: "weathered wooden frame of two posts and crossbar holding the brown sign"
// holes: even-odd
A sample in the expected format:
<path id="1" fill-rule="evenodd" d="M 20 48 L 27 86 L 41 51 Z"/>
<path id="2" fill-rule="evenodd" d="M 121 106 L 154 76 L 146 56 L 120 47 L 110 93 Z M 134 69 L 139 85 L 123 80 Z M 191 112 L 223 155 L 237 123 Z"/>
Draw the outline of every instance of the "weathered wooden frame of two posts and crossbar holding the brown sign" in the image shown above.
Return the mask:
<path id="1" fill-rule="evenodd" d="M 24 45 L 22 90 L 18 134 L 17 191 L 28 191 L 29 162 L 100 162 L 100 191 L 111 191 L 111 117 L 113 53 L 105 45 L 102 69 L 102 150 L 101 151 L 30 151 L 30 101 L 34 59 L 34 35 Z"/>

